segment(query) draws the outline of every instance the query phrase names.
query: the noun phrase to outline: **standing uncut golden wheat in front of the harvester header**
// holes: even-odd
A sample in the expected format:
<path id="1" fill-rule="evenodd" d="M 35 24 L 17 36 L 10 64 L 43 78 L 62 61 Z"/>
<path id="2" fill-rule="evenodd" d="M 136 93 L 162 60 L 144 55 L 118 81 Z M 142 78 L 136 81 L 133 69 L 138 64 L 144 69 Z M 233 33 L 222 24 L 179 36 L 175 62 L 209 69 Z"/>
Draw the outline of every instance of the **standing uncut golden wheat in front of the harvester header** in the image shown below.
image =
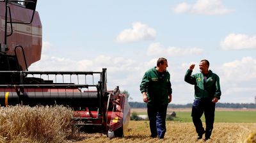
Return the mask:
<path id="1" fill-rule="evenodd" d="M 0 109 L 0 142 L 65 142 L 76 138 L 66 107 L 10 106 Z"/>

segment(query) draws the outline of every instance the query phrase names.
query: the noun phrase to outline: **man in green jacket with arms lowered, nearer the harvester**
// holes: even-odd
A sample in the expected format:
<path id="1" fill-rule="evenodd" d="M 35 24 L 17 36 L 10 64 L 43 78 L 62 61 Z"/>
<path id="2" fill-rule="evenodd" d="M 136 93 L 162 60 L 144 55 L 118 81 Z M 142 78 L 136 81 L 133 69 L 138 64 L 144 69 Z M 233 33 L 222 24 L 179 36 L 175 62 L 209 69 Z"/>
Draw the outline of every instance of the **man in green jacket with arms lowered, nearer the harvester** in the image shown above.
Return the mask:
<path id="1" fill-rule="evenodd" d="M 147 103 L 150 137 L 159 139 L 164 138 L 167 106 L 172 102 L 172 85 L 167 67 L 167 59 L 160 57 L 157 66 L 144 74 L 140 84 L 143 102 Z"/>

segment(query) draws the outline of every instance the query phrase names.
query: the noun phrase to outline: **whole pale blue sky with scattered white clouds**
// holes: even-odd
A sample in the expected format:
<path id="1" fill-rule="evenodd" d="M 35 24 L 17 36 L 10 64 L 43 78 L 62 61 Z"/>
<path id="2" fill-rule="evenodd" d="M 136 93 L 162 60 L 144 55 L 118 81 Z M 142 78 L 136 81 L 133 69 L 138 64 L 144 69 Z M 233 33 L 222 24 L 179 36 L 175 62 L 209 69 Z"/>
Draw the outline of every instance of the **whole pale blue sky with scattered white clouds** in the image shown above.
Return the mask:
<path id="1" fill-rule="evenodd" d="M 254 103 L 256 1 L 38 1 L 42 58 L 29 70 L 100 71 L 108 89 L 120 86 L 143 102 L 140 82 L 168 59 L 175 104 L 193 102 L 184 82 L 189 64 L 210 61 L 221 84 L 221 103 Z"/>

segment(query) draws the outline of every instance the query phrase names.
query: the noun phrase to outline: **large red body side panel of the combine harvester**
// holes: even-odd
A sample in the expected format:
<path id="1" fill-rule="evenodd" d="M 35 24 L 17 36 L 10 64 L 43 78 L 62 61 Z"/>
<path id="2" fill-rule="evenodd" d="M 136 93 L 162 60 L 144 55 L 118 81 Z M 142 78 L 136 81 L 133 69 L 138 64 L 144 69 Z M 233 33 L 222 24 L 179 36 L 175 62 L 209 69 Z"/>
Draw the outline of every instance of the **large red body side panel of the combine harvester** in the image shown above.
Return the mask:
<path id="1" fill-rule="evenodd" d="M 5 27 L 5 4 L 0 1 L 0 43 L 4 44 L 4 27 Z M 11 2 L 8 3 L 10 7 L 10 13 L 8 12 L 8 21 L 10 22 L 10 16 L 12 22 L 29 22 L 32 19 L 33 10 L 26 9 L 24 7 L 17 6 Z M 12 31 L 13 30 L 13 31 Z M 22 45 L 24 48 L 24 54 L 26 56 L 27 65 L 31 65 L 40 60 L 42 51 L 42 24 L 38 12 L 35 11 L 33 21 L 31 24 L 7 24 L 7 34 L 11 34 L 7 37 L 8 51 L 7 55 L 15 55 L 15 46 Z M 26 69 L 24 57 L 22 51 L 17 49 L 17 59 L 23 70 Z"/>

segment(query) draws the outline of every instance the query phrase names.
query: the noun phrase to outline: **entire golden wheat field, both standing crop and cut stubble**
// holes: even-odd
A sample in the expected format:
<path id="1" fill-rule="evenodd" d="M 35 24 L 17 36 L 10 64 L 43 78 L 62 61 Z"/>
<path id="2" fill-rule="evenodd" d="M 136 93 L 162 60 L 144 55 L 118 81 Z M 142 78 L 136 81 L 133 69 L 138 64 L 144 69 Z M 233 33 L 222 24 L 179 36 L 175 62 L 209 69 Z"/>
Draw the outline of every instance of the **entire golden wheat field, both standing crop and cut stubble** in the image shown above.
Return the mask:
<path id="1" fill-rule="evenodd" d="M 109 139 L 102 133 L 79 133 L 71 117 L 72 110 L 61 106 L 1 108 L 0 143 L 204 142 L 204 138 L 196 140 L 193 123 L 166 121 L 167 132 L 159 140 L 149 137 L 148 121 L 130 121 L 124 137 Z M 211 139 L 206 142 L 256 142 L 256 123 L 214 123 Z"/>

